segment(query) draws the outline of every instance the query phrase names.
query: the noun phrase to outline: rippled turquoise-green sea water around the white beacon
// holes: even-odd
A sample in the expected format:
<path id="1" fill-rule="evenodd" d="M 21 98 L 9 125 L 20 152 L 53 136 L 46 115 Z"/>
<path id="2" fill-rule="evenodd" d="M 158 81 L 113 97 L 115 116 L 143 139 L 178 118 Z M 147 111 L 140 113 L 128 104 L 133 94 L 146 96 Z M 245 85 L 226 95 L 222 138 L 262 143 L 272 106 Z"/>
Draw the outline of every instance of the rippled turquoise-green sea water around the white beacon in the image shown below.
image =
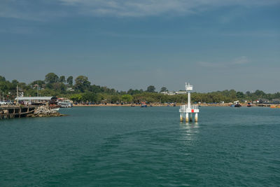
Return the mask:
<path id="1" fill-rule="evenodd" d="M 280 110 L 74 107 L 0 120 L 0 186 L 280 186 Z"/>

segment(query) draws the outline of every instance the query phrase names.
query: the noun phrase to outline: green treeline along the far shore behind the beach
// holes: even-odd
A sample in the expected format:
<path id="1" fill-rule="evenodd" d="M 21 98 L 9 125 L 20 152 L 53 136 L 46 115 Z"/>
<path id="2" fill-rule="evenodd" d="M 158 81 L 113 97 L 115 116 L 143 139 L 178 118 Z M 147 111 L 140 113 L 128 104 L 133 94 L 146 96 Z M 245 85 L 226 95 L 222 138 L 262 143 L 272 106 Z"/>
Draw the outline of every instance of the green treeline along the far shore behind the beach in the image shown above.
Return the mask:
<path id="1" fill-rule="evenodd" d="M 146 90 L 127 90 L 118 91 L 106 86 L 94 85 L 88 81 L 86 76 L 57 76 L 54 73 L 45 75 L 45 80 L 36 80 L 29 84 L 17 80 L 7 81 L 5 77 L 0 76 L 0 95 L 1 99 L 15 99 L 17 85 L 20 92 L 25 96 L 57 96 L 67 97 L 74 102 L 107 102 L 107 103 L 137 103 L 137 102 L 177 102 L 183 103 L 188 99 L 187 95 L 163 95 L 155 91 L 155 86 L 150 85 Z M 167 91 L 162 87 L 161 92 Z M 255 99 L 279 99 L 280 92 L 274 94 L 265 93 L 261 90 L 255 92 L 237 92 L 235 90 L 223 90 L 208 93 L 193 92 L 192 102 L 233 102 L 235 100 L 246 99 L 253 101 Z"/>

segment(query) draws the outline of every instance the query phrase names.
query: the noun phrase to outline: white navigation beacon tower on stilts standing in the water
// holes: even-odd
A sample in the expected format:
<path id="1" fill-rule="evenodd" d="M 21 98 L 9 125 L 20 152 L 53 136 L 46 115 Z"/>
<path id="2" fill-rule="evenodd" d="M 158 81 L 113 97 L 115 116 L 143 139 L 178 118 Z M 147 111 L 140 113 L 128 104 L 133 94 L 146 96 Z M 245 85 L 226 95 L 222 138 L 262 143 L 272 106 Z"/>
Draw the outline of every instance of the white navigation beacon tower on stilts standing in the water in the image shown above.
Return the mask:
<path id="1" fill-rule="evenodd" d="M 193 113 L 195 114 L 195 122 L 198 121 L 198 113 L 200 109 L 198 109 L 198 105 L 191 105 L 190 102 L 190 91 L 193 90 L 193 85 L 190 83 L 186 83 L 186 92 L 188 92 L 188 104 L 181 105 L 179 112 L 180 112 L 180 121 L 183 122 L 183 119 L 186 120 L 186 123 L 189 121 L 193 121 Z"/>

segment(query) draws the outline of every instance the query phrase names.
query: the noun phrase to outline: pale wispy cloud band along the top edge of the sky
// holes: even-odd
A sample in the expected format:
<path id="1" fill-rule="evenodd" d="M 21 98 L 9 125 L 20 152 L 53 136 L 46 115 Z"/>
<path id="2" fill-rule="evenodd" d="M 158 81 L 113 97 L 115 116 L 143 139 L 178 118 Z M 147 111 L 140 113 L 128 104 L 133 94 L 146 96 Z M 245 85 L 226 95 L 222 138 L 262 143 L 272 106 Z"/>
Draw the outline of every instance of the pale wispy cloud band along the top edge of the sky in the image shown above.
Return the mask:
<path id="1" fill-rule="evenodd" d="M 279 0 L 59 0 L 65 6 L 74 6 L 79 13 L 97 16 L 143 17 L 161 14 L 189 14 L 221 6 L 267 6 Z"/>

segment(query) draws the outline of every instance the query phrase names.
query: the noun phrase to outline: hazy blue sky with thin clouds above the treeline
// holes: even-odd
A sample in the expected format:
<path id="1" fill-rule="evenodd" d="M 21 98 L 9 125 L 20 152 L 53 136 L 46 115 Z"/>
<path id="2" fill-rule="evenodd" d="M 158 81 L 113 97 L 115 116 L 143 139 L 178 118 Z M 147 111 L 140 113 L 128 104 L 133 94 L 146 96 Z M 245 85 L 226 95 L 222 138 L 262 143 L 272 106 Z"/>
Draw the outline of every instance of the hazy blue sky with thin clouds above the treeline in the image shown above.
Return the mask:
<path id="1" fill-rule="evenodd" d="M 280 0 L 1 0 L 0 75 L 280 92 Z"/>

